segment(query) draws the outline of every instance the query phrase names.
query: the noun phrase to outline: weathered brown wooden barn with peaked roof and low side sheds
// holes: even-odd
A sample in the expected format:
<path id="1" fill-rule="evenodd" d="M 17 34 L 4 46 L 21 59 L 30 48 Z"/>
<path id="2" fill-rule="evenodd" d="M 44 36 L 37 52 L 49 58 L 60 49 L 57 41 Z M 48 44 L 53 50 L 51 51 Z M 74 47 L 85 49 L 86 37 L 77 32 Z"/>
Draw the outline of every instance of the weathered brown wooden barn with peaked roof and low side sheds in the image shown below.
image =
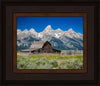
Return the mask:
<path id="1" fill-rule="evenodd" d="M 29 49 L 20 51 L 20 55 L 30 55 L 39 53 L 60 53 L 60 50 L 53 49 L 52 45 L 46 41 L 34 42 Z"/>

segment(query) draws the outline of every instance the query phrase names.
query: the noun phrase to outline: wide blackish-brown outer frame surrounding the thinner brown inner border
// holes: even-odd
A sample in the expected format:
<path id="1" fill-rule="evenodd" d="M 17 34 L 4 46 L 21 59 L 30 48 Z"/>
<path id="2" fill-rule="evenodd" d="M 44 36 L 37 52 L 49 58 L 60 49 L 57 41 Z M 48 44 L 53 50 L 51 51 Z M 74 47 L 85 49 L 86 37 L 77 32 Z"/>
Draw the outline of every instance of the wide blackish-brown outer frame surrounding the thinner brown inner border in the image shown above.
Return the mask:
<path id="1" fill-rule="evenodd" d="M 5 1 L 5 0 L 4 0 Z M 12 2 L 7 0 L 2 2 L 2 58 L 0 58 L 2 67 L 2 84 L 24 84 L 32 85 L 69 85 L 86 86 L 88 84 L 98 86 L 99 74 L 97 71 L 98 63 L 98 2 L 92 3 L 66 3 L 64 1 L 34 1 L 17 0 Z M 76 1 L 76 0 L 75 0 Z M 22 3 L 24 2 L 24 3 Z M 40 3 L 45 2 L 45 3 Z M 54 2 L 54 3 L 53 3 Z M 59 3 L 60 2 L 60 3 Z M 87 72 L 86 73 L 14 73 L 13 72 L 13 13 L 87 13 Z M 96 28 L 96 29 L 94 29 Z M 100 66 L 99 66 L 100 67 Z M 84 85 L 85 84 L 85 85 Z M 64 86 L 65 86 L 64 85 Z M 87 86 L 88 86 L 87 85 Z M 99 83 L 100 85 L 100 83 Z"/>

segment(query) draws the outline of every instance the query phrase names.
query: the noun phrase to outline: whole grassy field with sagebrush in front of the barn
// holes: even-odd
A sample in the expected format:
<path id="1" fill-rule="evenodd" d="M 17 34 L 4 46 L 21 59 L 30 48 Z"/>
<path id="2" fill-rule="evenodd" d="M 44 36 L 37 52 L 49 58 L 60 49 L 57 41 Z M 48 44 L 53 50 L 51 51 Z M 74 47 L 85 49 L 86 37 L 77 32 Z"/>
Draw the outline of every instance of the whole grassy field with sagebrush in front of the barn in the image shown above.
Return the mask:
<path id="1" fill-rule="evenodd" d="M 82 55 L 33 54 L 20 56 L 17 53 L 18 69 L 82 69 Z"/>

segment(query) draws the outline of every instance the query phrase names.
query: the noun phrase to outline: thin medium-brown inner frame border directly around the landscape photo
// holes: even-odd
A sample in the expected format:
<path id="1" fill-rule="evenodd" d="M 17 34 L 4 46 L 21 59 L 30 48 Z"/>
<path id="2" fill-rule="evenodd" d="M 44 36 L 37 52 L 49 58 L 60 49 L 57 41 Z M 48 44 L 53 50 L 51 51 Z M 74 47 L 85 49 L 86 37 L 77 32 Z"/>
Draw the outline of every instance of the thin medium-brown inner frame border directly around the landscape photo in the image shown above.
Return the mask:
<path id="1" fill-rule="evenodd" d="M 83 17 L 83 69 L 30 69 L 30 70 L 19 70 L 17 69 L 17 17 L 30 17 L 30 16 L 53 16 L 53 17 Z M 87 13 L 14 13 L 13 14 L 13 72 L 14 73 L 86 73 L 87 72 Z"/>

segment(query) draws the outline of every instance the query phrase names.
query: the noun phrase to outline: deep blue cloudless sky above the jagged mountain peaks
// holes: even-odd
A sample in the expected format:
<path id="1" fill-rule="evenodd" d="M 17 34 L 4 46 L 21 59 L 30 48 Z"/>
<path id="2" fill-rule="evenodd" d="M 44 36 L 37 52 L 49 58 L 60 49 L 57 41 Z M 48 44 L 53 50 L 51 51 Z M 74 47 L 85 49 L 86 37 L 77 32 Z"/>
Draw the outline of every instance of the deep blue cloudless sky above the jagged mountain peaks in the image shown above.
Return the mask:
<path id="1" fill-rule="evenodd" d="M 54 30 L 60 28 L 67 31 L 72 28 L 75 32 L 83 34 L 83 17 L 17 17 L 17 29 L 22 31 L 34 28 L 39 33 L 48 25 Z"/>

